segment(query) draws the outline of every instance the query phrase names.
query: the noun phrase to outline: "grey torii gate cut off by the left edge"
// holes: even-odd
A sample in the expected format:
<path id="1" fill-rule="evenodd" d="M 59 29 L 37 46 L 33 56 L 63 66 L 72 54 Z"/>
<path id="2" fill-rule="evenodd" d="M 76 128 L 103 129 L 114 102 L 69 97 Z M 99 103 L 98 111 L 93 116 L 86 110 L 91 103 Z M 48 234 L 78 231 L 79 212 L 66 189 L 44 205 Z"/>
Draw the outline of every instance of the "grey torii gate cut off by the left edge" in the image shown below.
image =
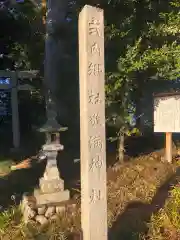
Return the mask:
<path id="1" fill-rule="evenodd" d="M 38 71 L 2 71 L 0 70 L 0 78 L 8 81 L 3 81 L 0 84 L 0 90 L 11 91 L 11 108 L 12 108 L 12 133 L 13 133 L 13 147 L 18 149 L 20 147 L 20 129 L 19 129 L 19 111 L 18 111 L 18 91 L 19 90 L 33 90 L 34 88 L 29 84 L 19 84 L 18 79 L 33 79 L 37 77 Z"/>

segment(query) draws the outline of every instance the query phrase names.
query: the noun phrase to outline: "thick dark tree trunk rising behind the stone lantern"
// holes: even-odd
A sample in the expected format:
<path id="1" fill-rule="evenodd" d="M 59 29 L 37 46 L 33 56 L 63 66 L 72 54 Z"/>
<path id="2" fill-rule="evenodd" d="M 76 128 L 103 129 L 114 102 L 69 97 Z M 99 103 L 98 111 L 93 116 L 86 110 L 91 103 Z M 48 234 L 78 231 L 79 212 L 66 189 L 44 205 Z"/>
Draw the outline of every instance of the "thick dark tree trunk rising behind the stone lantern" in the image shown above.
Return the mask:
<path id="1" fill-rule="evenodd" d="M 50 90 L 51 99 L 47 99 L 47 102 L 51 101 L 51 105 L 53 105 L 53 108 L 59 113 L 61 119 L 63 119 L 66 114 L 60 89 L 62 89 L 62 83 L 65 81 L 62 72 L 64 68 L 66 40 L 64 39 L 64 30 L 67 9 L 68 0 L 47 1 L 44 85 L 46 94 L 47 91 Z"/>

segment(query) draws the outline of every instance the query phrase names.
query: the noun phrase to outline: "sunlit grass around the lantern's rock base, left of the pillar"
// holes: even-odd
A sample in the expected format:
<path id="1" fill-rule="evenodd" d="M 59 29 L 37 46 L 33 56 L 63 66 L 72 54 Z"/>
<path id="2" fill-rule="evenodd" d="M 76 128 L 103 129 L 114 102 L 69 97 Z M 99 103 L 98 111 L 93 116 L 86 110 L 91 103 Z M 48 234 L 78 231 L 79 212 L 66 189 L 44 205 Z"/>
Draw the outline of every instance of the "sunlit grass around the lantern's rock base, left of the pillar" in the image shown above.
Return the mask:
<path id="1" fill-rule="evenodd" d="M 33 221 L 25 225 L 20 208 L 14 206 L 0 214 L 0 240 L 67 240 L 71 220 L 64 213 L 44 226 Z"/>

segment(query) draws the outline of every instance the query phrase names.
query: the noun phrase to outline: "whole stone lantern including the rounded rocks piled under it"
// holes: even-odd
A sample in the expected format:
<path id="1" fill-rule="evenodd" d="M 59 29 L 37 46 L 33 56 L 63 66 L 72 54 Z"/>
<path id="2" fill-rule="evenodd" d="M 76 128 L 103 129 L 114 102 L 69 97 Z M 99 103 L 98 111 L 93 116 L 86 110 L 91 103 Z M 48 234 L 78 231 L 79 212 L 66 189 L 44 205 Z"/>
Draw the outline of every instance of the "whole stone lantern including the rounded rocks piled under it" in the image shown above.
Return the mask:
<path id="1" fill-rule="evenodd" d="M 47 165 L 43 177 L 39 181 L 39 188 L 35 189 L 33 196 L 24 195 L 22 211 L 25 223 L 35 220 L 44 224 L 56 214 L 65 211 L 61 202 L 69 200 L 69 190 L 64 190 L 64 181 L 61 179 L 57 167 L 57 155 L 64 149 L 60 144 L 60 132 L 66 131 L 56 121 L 56 113 L 52 104 L 48 105 L 47 122 L 39 129 L 46 135 L 46 142 L 42 146 L 41 158 L 47 158 Z"/>

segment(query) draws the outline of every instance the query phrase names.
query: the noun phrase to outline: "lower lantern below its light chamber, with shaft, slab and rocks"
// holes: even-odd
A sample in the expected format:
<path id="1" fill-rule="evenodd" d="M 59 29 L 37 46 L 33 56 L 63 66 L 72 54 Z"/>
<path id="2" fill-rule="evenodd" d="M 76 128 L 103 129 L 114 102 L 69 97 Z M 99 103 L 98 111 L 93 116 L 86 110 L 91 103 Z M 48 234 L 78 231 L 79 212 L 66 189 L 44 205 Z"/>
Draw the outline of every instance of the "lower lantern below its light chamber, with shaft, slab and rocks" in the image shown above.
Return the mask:
<path id="1" fill-rule="evenodd" d="M 25 223 L 34 220 L 44 224 L 48 219 L 55 218 L 57 214 L 65 211 L 63 202 L 70 199 L 69 190 L 64 190 L 64 181 L 59 176 L 56 156 L 62 149 L 59 143 L 49 143 L 43 146 L 43 152 L 47 156 L 47 165 L 44 176 L 39 181 L 39 189 L 33 196 L 24 196 L 22 211 Z M 61 206 L 60 206 L 61 205 Z"/>

